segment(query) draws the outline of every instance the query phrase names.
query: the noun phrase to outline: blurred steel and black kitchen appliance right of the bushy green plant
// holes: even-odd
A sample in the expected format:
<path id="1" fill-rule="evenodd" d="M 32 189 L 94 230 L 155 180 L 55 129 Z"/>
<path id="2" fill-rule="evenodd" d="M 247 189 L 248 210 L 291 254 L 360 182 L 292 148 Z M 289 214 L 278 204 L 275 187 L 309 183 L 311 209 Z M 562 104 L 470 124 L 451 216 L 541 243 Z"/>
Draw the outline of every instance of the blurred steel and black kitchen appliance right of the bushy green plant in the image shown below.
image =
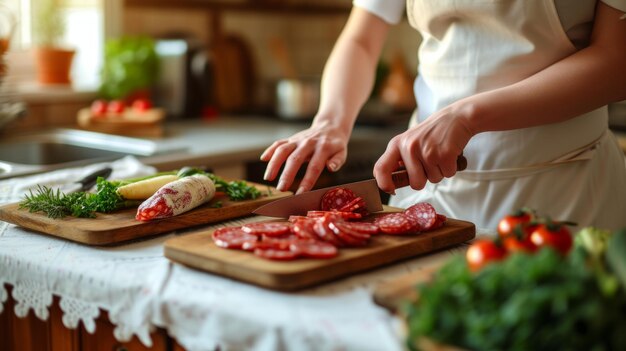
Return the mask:
<path id="1" fill-rule="evenodd" d="M 199 117 L 211 104 L 211 55 L 197 39 L 172 34 L 156 41 L 160 74 L 154 100 L 169 118 Z"/>

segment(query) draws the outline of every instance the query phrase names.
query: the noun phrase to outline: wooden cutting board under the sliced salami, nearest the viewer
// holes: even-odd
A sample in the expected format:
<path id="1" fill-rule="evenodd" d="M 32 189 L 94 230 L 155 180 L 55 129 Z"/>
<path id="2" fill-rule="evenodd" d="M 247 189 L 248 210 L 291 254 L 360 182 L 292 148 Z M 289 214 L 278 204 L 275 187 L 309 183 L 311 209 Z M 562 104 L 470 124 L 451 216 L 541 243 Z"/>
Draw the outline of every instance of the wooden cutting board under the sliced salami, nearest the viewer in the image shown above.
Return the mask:
<path id="1" fill-rule="evenodd" d="M 386 212 L 398 211 L 386 207 Z M 373 236 L 366 247 L 342 248 L 332 259 L 270 261 L 250 252 L 217 247 L 211 230 L 204 230 L 165 242 L 165 256 L 192 268 L 216 273 L 275 290 L 297 290 L 351 273 L 364 271 L 474 238 L 473 223 L 448 219 L 432 232 Z"/>

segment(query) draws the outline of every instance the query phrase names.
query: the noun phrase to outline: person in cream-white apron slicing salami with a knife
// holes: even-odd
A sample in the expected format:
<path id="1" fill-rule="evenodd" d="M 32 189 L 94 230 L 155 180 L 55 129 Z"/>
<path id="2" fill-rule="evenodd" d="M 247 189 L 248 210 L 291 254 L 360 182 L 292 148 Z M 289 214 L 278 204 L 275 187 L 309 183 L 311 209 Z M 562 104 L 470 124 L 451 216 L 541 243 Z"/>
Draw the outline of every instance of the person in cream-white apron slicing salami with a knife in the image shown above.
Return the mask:
<path id="1" fill-rule="evenodd" d="M 311 127 L 272 144 L 266 179 L 299 192 L 337 170 L 389 24 L 404 0 L 355 0 L 325 67 Z M 626 99 L 626 0 L 408 0 L 422 34 L 418 111 L 391 140 L 374 175 L 393 192 L 403 164 L 411 188 L 390 204 L 428 201 L 450 217 L 494 229 L 527 206 L 580 226 L 626 227 L 624 156 L 606 104 Z M 468 167 L 456 172 L 463 153 Z"/>

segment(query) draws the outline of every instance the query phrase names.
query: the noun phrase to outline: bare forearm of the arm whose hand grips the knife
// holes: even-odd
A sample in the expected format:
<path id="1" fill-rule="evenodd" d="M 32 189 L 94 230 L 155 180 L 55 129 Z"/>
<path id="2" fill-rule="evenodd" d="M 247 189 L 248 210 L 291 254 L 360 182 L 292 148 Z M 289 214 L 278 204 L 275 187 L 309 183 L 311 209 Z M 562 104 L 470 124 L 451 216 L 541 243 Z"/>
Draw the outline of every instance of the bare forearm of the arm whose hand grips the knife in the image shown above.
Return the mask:
<path id="1" fill-rule="evenodd" d="M 557 123 L 626 99 L 626 23 L 616 21 L 617 15 L 610 18 L 613 27 L 595 28 L 588 48 L 516 84 L 461 101 L 470 129 L 480 133 Z M 618 38 L 607 40 L 607 31 Z"/>

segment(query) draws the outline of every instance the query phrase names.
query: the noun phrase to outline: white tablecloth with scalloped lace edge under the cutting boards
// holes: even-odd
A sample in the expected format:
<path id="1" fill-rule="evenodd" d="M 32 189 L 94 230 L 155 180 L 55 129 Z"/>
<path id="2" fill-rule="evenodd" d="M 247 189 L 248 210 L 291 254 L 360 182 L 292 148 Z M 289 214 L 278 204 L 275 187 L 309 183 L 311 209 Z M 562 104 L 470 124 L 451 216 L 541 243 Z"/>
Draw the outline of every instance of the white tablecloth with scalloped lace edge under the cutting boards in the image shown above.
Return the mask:
<path id="1" fill-rule="evenodd" d="M 112 178 L 154 170 L 128 157 L 111 163 Z M 61 185 L 100 165 L 0 182 L 0 204 L 19 201 L 37 184 Z M 235 225 L 252 217 L 216 225 Z M 0 222 L 0 313 L 13 286 L 15 314 L 48 318 L 60 297 L 63 323 L 95 332 L 100 309 L 115 338 L 136 335 L 146 346 L 162 327 L 189 350 L 401 350 L 398 321 L 374 304 L 376 284 L 429 267 L 454 250 L 403 261 L 297 293 L 281 293 L 170 263 L 155 239 L 89 247 Z M 8 311 L 4 311 L 8 313 Z"/>

